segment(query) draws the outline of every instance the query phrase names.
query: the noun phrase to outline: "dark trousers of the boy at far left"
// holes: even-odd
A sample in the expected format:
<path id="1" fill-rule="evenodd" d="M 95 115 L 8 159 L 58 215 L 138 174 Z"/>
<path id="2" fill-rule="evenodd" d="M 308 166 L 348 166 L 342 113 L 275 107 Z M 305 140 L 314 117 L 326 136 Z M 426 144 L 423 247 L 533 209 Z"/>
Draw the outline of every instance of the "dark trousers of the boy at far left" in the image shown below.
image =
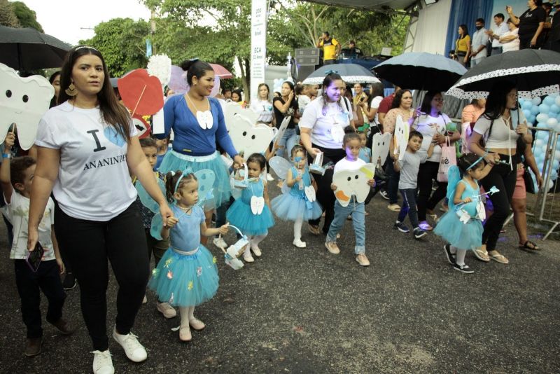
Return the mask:
<path id="1" fill-rule="evenodd" d="M 22 301 L 23 323 L 27 326 L 27 338 L 41 338 L 41 294 L 48 300 L 47 321 L 54 324 L 62 318 L 62 306 L 66 293 L 60 282 L 56 260 L 41 262 L 37 272 L 33 272 L 25 260 L 14 260 L 15 284 Z"/>

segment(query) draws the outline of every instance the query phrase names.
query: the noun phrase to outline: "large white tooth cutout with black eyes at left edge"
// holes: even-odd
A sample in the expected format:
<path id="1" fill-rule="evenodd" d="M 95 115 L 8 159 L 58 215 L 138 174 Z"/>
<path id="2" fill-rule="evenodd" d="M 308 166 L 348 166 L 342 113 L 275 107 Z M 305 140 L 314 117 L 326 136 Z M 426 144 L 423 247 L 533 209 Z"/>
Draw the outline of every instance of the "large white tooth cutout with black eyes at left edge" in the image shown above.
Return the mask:
<path id="1" fill-rule="evenodd" d="M 39 121 L 48 111 L 55 88 L 43 76 L 21 78 L 15 70 L 0 64 L 0 139 L 15 123 L 20 146 L 33 146 Z"/>

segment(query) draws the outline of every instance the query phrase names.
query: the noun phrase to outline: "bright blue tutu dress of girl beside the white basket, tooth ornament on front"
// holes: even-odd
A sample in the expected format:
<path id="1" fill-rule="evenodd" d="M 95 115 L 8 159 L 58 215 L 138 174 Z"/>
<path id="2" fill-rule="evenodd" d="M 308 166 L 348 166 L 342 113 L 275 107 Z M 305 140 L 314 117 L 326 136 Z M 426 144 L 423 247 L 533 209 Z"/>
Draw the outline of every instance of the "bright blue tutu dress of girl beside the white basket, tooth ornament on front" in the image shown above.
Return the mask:
<path id="1" fill-rule="evenodd" d="M 274 226 L 274 217 L 268 205 L 265 204 L 261 214 L 251 212 L 251 198 L 262 197 L 264 191 L 265 185 L 262 179 L 249 182 L 247 188 L 241 191 L 241 198 L 235 200 L 225 214 L 226 219 L 244 235 L 265 235 L 268 233 L 268 228 Z"/>

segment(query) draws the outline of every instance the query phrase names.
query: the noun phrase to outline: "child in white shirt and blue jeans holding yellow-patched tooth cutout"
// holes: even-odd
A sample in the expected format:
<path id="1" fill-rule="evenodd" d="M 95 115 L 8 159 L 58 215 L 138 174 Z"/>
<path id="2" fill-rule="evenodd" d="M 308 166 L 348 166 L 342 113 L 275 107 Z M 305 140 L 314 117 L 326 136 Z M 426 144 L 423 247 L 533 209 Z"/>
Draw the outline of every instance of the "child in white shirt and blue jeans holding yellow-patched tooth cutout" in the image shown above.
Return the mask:
<path id="1" fill-rule="evenodd" d="M 348 128 L 346 127 L 344 130 L 349 131 Z M 361 146 L 360 135 L 355 131 L 352 130 L 344 134 L 342 147 L 346 151 L 346 157 L 336 163 L 334 174 L 343 170 L 358 170 L 365 165 L 365 162 L 359 158 Z M 367 181 L 370 186 L 374 186 L 374 183 L 373 179 Z M 331 183 L 330 188 L 335 191 L 337 186 Z M 357 202 L 354 195 L 351 196 L 351 202 L 346 207 L 340 205 L 338 200 L 335 202 L 335 218 L 330 223 L 325 247 L 331 254 L 340 253 L 337 246 L 337 235 L 342 230 L 346 218 L 350 215 L 356 234 L 356 246 L 354 247 L 356 261 L 362 266 L 368 266 L 370 261 L 365 256 L 365 205 L 364 202 Z"/>

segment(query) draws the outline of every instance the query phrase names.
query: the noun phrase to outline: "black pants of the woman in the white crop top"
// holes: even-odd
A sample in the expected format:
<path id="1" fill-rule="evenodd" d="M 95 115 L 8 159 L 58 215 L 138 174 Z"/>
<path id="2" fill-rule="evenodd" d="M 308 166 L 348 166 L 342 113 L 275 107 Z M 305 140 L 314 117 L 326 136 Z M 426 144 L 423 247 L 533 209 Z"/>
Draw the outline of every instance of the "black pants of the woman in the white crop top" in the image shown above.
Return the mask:
<path id="1" fill-rule="evenodd" d="M 500 159 L 508 161 L 510 158 L 507 155 L 500 155 Z M 486 251 L 496 249 L 500 230 L 510 214 L 510 203 L 517 179 L 517 157 L 512 157 L 512 163 L 513 170 L 510 165 L 498 164 L 492 167 L 489 174 L 480 181 L 486 192 L 490 191 L 493 186 L 500 190 L 500 192 L 490 195 L 494 211 L 490 218 L 486 220 L 484 233 L 482 233 L 482 244 L 486 244 Z"/>

